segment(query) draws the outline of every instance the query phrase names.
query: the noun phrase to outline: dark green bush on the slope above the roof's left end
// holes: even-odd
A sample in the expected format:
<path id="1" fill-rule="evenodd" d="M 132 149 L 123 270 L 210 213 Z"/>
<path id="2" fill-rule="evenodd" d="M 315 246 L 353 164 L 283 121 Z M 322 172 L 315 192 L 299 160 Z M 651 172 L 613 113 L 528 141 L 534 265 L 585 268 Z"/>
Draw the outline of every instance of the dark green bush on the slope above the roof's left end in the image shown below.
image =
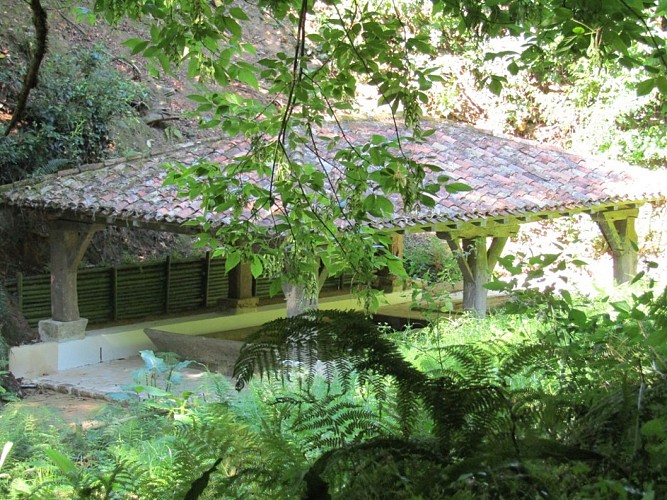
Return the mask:
<path id="1" fill-rule="evenodd" d="M 10 99 L 20 84 L 16 68 L 0 59 L 0 87 Z M 131 116 L 144 98 L 101 51 L 52 55 L 20 128 L 0 140 L 0 184 L 104 159 L 113 152 L 113 121 Z"/>

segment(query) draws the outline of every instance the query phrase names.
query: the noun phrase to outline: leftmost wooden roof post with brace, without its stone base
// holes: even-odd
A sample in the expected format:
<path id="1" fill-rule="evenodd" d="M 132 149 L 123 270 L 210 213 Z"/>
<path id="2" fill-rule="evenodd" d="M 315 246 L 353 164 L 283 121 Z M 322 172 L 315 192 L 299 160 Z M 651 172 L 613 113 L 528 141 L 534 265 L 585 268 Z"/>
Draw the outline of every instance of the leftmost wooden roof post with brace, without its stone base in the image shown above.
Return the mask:
<path id="1" fill-rule="evenodd" d="M 77 269 L 100 225 L 55 221 L 51 224 L 51 316 L 55 321 L 77 321 Z"/>

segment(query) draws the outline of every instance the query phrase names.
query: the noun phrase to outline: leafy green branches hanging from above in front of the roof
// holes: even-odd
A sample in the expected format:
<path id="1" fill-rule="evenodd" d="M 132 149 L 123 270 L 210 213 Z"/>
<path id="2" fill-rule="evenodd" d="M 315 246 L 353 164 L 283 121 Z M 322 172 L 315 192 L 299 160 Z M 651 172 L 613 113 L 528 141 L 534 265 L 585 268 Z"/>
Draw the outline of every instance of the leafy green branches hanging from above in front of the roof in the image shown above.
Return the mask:
<path id="1" fill-rule="evenodd" d="M 496 94 L 508 83 L 508 74 L 521 73 L 544 87 L 550 81 L 567 85 L 579 79 L 582 72 L 572 68 L 582 60 L 591 67 L 625 68 L 634 75 L 626 80 L 629 88 L 659 94 L 658 121 L 664 118 L 662 1 L 304 0 L 259 5 L 285 23 L 294 43 L 255 63 L 243 26 L 258 14 L 231 1 L 95 2 L 96 12 L 111 22 L 126 16 L 151 22 L 149 36 L 127 44 L 152 59 L 156 71 L 182 65 L 191 77 L 217 85 L 192 96 L 202 125 L 244 136 L 249 152 L 222 172 L 205 162 L 174 166 L 171 181 L 191 196 L 203 196 L 208 211 L 231 214 L 214 241 L 209 238 L 230 266 L 247 261 L 259 276 L 267 266 L 282 263 L 274 291 L 285 281 L 316 296 L 321 263 L 332 275 L 351 269 L 356 283 L 365 286 L 382 267 L 404 275 L 373 221 L 391 220 L 401 208 L 433 205 L 430 193 L 438 187 L 423 185 L 423 179 L 425 169 L 434 167 L 407 157 L 402 145 L 428 140 L 421 118 L 433 103 L 432 90 L 455 80 L 438 67 L 439 53 L 514 37 L 509 50 L 489 45 L 477 51 L 478 57 L 501 66 L 497 71 L 482 67 L 476 75 Z M 598 81 L 591 79 L 591 84 Z M 243 92 L 235 90 L 239 86 Z M 355 99 L 365 86 L 375 90 L 377 106 L 387 110 L 391 136 L 352 144 L 341 123 L 356 111 Z M 325 123 L 332 124 L 334 133 L 321 137 Z M 626 143 L 651 134 L 650 147 L 664 141 L 655 131 L 628 137 Z M 331 170 L 327 160 L 334 143 L 343 147 L 332 158 L 342 167 Z M 634 144 L 628 148 L 635 150 Z M 645 163 L 660 161 L 658 154 Z M 249 178 L 264 182 L 247 182 Z M 443 177 L 440 183 L 447 182 Z M 202 222 L 206 224 L 205 217 Z M 377 305 L 372 297 L 366 299 L 367 305 Z"/>

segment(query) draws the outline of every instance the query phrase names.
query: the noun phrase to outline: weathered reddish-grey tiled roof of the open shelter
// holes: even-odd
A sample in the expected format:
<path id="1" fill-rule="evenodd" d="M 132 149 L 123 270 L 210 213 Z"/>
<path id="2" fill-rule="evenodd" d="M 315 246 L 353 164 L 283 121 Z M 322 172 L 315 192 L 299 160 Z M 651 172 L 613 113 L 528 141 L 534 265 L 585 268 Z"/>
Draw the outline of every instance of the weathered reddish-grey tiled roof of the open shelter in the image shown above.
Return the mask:
<path id="1" fill-rule="evenodd" d="M 371 134 L 391 138 L 393 127 L 383 123 L 345 123 L 348 138 L 367 140 Z M 406 145 L 416 160 L 439 165 L 450 182 L 473 189 L 436 194 L 434 208 L 399 211 L 378 226 L 404 228 L 489 217 L 542 212 L 596 210 L 613 204 L 657 201 L 667 195 L 667 176 L 627 164 L 583 158 L 526 141 L 489 135 L 476 129 L 436 125 L 424 144 Z M 240 139 L 182 145 L 148 157 L 113 160 L 0 188 L 0 205 L 75 214 L 108 223 L 183 224 L 202 215 L 200 200 L 179 196 L 163 186 L 166 162 L 192 164 L 206 158 L 221 165 L 244 154 Z M 333 162 L 333 160 L 329 160 Z M 225 224 L 228 214 L 209 214 L 213 225 Z"/>

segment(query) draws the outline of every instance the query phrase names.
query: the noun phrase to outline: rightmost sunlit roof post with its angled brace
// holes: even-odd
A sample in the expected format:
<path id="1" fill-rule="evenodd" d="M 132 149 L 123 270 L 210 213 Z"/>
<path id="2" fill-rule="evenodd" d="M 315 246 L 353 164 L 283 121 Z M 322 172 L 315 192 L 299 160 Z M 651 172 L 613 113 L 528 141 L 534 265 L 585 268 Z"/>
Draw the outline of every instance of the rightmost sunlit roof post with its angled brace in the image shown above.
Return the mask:
<path id="1" fill-rule="evenodd" d="M 639 209 L 607 211 L 594 214 L 614 260 L 614 281 L 625 283 L 637 274 L 637 231 Z"/>

